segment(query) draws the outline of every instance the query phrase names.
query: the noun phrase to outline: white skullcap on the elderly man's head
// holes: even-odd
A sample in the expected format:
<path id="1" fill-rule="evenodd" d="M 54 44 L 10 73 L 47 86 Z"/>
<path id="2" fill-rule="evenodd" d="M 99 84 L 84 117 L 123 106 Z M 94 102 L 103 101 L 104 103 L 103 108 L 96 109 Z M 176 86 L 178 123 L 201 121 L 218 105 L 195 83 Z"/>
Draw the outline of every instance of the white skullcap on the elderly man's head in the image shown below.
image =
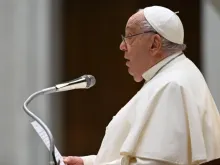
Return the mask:
<path id="1" fill-rule="evenodd" d="M 171 42 L 183 44 L 183 24 L 176 13 L 165 7 L 151 6 L 144 9 L 144 16 L 161 36 Z"/>

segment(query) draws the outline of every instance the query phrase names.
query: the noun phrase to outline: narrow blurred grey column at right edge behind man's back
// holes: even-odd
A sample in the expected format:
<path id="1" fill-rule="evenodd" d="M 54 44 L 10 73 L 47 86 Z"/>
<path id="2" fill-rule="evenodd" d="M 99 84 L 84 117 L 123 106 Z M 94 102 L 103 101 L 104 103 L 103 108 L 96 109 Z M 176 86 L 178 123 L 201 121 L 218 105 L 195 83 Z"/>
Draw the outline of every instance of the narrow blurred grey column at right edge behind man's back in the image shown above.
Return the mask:
<path id="1" fill-rule="evenodd" d="M 202 66 L 205 78 L 220 110 L 220 1 L 202 3 Z"/>

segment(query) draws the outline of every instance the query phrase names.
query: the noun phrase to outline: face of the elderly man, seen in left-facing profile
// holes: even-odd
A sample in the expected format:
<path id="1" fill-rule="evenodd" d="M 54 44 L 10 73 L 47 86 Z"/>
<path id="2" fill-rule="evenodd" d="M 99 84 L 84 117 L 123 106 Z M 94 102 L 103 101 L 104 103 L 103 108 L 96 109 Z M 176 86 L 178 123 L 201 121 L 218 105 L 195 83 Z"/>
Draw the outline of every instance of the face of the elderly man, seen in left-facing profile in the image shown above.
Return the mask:
<path id="1" fill-rule="evenodd" d="M 130 17 L 125 28 L 125 40 L 120 44 L 120 50 L 124 51 L 124 58 L 127 60 L 128 72 L 136 82 L 142 81 L 143 73 L 154 64 L 155 52 L 152 51 L 154 33 L 144 33 L 144 29 L 141 29 L 140 20 L 144 20 L 143 17 L 142 12 Z M 135 34 L 139 35 L 128 37 Z"/>

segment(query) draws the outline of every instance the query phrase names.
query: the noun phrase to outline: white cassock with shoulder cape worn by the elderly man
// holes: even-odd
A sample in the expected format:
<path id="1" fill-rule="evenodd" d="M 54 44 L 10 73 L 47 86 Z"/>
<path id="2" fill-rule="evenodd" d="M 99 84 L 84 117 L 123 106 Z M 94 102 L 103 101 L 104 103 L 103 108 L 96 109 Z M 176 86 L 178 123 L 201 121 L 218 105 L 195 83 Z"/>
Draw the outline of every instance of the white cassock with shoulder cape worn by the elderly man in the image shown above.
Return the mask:
<path id="1" fill-rule="evenodd" d="M 180 53 L 143 74 L 146 83 L 113 117 L 98 154 L 82 157 L 85 165 L 192 165 L 220 157 L 219 112 L 202 74 Z"/>

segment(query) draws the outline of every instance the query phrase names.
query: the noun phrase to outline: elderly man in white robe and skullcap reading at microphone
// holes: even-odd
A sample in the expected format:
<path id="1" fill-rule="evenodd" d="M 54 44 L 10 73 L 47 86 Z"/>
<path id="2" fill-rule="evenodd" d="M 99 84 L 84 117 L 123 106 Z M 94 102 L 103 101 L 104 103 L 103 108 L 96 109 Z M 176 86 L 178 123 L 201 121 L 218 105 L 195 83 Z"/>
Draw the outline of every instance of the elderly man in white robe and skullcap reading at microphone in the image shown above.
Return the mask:
<path id="1" fill-rule="evenodd" d="M 161 6 L 127 22 L 120 49 L 128 72 L 145 84 L 115 115 L 97 155 L 68 165 L 192 165 L 220 157 L 220 118 L 198 68 L 183 53 L 184 29 Z"/>

